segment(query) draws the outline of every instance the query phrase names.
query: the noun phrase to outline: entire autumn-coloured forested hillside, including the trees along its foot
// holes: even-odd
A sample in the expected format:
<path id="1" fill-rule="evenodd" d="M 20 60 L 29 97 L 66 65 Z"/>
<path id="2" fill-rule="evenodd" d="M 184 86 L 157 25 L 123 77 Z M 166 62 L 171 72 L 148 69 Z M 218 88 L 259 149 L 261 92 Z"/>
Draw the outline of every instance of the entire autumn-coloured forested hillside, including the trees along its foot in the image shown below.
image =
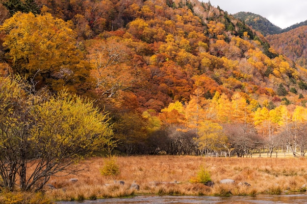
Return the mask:
<path id="1" fill-rule="evenodd" d="M 7 0 L 5 7 L 1 75 L 20 74 L 33 92 L 47 86 L 95 100 L 109 112 L 121 152 L 242 155 L 298 143 L 305 152 L 307 70 L 210 3 Z"/>

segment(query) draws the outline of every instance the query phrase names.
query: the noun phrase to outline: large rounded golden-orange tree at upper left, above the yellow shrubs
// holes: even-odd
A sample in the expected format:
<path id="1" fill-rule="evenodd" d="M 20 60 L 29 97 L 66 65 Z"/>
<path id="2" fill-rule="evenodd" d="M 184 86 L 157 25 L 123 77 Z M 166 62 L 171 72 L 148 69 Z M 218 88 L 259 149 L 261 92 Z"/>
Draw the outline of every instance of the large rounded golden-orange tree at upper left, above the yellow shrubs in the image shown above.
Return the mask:
<path id="1" fill-rule="evenodd" d="M 77 49 L 77 35 L 71 26 L 49 13 L 15 13 L 0 26 L 7 61 L 14 71 L 27 78 L 36 76 L 36 81 L 54 90 L 87 89 L 89 66 Z"/>

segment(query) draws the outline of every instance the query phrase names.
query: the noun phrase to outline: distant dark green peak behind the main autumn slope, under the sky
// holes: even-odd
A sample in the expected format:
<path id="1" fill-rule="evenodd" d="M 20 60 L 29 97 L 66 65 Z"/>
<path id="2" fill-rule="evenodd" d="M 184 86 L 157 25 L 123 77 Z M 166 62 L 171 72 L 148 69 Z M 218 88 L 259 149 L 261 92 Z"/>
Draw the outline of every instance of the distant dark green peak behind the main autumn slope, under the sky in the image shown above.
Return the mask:
<path id="1" fill-rule="evenodd" d="M 250 25 L 253 29 L 259 31 L 264 36 L 280 33 L 282 31 L 280 27 L 274 25 L 266 18 L 251 12 L 239 12 L 233 14 L 233 17 L 240 19 L 247 25 Z"/>

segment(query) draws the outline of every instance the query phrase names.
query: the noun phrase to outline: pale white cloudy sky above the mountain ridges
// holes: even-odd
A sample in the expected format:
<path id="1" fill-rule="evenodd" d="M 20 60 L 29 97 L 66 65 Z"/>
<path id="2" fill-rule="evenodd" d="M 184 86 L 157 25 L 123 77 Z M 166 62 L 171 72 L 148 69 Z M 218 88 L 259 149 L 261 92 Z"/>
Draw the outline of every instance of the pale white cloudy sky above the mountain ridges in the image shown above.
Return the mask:
<path id="1" fill-rule="evenodd" d="M 210 3 L 229 14 L 240 11 L 259 14 L 281 28 L 307 20 L 307 0 L 210 0 Z"/>

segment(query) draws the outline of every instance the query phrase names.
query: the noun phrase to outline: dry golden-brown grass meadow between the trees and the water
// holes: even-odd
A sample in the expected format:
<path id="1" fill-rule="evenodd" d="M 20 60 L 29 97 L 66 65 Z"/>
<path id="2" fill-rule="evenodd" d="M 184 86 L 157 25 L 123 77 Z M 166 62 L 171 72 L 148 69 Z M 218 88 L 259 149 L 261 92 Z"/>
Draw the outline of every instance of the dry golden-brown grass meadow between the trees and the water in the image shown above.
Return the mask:
<path id="1" fill-rule="evenodd" d="M 86 170 L 76 177 L 52 177 L 46 196 L 52 200 L 83 200 L 95 198 L 126 197 L 131 195 L 256 195 L 300 191 L 307 182 L 307 160 L 296 158 L 204 158 L 194 156 L 134 156 L 118 157 L 120 174 L 102 176 L 100 168 L 105 159 L 82 161 Z M 190 183 L 204 166 L 211 174 L 213 187 Z M 75 183 L 70 178 L 77 178 Z M 234 184 L 220 184 L 232 179 Z M 125 185 L 114 183 L 125 181 Z M 140 189 L 130 189 L 130 184 Z M 179 183 L 174 183 L 177 181 Z M 248 182 L 245 186 L 240 182 Z"/>

